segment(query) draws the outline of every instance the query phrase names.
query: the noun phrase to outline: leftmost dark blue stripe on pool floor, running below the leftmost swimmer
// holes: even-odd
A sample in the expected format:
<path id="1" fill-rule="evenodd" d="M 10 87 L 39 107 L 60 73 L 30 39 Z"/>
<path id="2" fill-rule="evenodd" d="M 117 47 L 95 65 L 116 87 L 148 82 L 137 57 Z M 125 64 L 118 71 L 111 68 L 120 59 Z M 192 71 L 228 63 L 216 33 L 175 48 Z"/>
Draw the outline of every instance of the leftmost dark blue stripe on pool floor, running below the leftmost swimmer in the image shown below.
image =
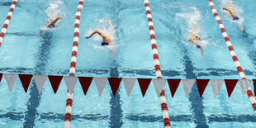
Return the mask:
<path id="1" fill-rule="evenodd" d="M 38 53 L 36 53 L 36 65 L 34 73 L 36 74 L 45 74 L 45 67 L 47 64 L 47 60 L 50 55 L 50 45 L 52 44 L 53 33 L 51 31 L 45 31 L 42 36 L 42 40 L 40 40 L 40 47 L 38 48 Z M 34 127 L 36 117 L 39 116 L 37 107 L 40 106 L 40 93 L 37 91 L 36 83 L 33 80 L 31 83 L 31 88 L 29 89 L 30 98 L 26 103 L 27 111 L 25 111 L 23 127 Z"/>

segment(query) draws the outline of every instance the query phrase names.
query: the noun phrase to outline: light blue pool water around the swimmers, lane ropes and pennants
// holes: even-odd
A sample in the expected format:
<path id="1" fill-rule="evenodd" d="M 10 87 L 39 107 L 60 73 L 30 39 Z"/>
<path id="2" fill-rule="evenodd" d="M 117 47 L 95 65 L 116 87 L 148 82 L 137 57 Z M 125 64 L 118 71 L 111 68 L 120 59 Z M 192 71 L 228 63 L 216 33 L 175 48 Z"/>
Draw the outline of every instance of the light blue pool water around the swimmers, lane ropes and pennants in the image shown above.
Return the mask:
<path id="1" fill-rule="evenodd" d="M 254 0 L 236 0 L 235 12 L 244 21 L 244 32 L 222 11 L 228 1 L 214 0 L 217 11 L 230 36 L 235 52 L 247 78 L 254 78 L 256 65 L 256 19 Z M 1 0 L 0 23 L 3 23 L 12 0 Z M 163 78 L 230 78 L 239 73 L 208 1 L 149 1 L 159 50 Z M 18 0 L 0 52 L 1 73 L 31 73 L 69 75 L 73 45 L 74 16 L 78 0 Z M 45 30 L 48 17 L 64 16 L 54 30 Z M 114 29 L 109 29 L 111 20 Z M 198 22 L 199 35 L 208 43 L 201 51 L 188 42 L 193 21 Z M 2 25 L 1 25 L 2 26 Z M 80 22 L 80 38 L 76 76 L 155 78 L 154 61 L 149 40 L 144 1 L 93 0 L 84 1 Z M 84 39 L 95 28 L 108 32 L 114 40 L 116 55 L 100 46 L 100 38 Z M 64 80 L 54 94 L 49 80 L 39 94 L 35 82 L 24 92 L 17 79 L 12 93 L 7 83 L 0 83 L 0 127 L 63 127 L 67 88 Z M 252 86 L 252 85 L 251 85 Z M 214 98 L 211 85 L 199 97 L 197 86 L 189 97 L 182 83 L 172 98 L 165 87 L 172 127 L 254 127 L 256 116 L 247 96 L 242 97 L 239 85 L 228 98 L 222 86 Z M 127 97 L 123 83 L 113 97 L 107 83 L 102 97 L 92 81 L 87 96 L 79 83 L 73 92 L 71 127 L 164 127 L 159 97 L 153 83 L 142 97 L 135 83 Z"/>

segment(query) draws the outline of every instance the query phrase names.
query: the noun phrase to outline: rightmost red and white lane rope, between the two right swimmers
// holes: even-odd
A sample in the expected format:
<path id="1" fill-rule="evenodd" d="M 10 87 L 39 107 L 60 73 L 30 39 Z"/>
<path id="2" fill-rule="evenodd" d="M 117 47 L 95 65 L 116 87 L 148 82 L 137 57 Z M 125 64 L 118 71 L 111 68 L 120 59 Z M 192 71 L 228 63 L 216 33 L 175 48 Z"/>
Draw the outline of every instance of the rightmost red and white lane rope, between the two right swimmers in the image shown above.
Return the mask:
<path id="1" fill-rule="evenodd" d="M 229 36 L 227 35 L 226 31 L 225 31 L 225 28 L 222 24 L 222 21 L 220 20 L 220 17 L 216 11 L 216 7 L 214 6 L 212 0 L 208 0 L 209 2 L 209 5 L 211 7 L 211 11 L 212 11 L 212 14 L 214 15 L 214 17 L 216 18 L 216 21 L 219 23 L 219 26 L 220 26 L 220 31 L 222 33 L 222 36 L 224 37 L 225 39 L 225 43 L 226 45 L 228 46 L 229 50 L 230 50 L 230 54 L 232 55 L 232 59 L 234 60 L 234 63 L 235 63 L 235 66 L 236 66 L 236 69 L 237 71 L 239 72 L 239 76 L 242 78 L 242 79 L 246 79 L 245 77 L 245 74 L 244 74 L 244 71 L 239 63 L 239 60 L 237 59 L 237 56 L 235 54 L 235 50 L 230 42 L 230 38 Z M 248 90 L 247 90 L 247 95 L 249 97 L 249 100 L 250 102 L 252 103 L 252 106 L 254 108 L 254 112 L 256 113 L 256 101 L 255 101 L 255 97 L 253 95 L 253 92 L 252 92 L 252 89 L 249 87 Z"/>

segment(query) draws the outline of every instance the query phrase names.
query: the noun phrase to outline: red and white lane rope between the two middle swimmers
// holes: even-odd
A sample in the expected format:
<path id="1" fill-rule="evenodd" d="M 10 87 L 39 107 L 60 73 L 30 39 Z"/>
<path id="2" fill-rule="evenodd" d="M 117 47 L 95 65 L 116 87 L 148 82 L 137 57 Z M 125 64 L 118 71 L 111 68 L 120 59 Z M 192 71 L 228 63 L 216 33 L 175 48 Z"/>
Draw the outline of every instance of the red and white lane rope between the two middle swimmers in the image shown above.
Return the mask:
<path id="1" fill-rule="evenodd" d="M 157 78 L 162 78 L 162 73 L 161 73 L 160 63 L 159 63 L 159 54 L 158 54 L 155 35 L 154 35 L 154 25 L 153 25 L 152 15 L 149 7 L 149 0 L 145 0 L 144 2 L 145 2 L 146 14 L 149 21 L 149 33 L 150 33 L 150 40 L 151 40 L 151 46 L 153 51 L 153 57 L 154 57 L 155 74 Z M 168 116 L 168 107 L 166 103 L 164 89 L 160 93 L 160 102 L 161 102 L 161 107 L 163 112 L 164 128 L 170 128 L 171 124 Z"/>

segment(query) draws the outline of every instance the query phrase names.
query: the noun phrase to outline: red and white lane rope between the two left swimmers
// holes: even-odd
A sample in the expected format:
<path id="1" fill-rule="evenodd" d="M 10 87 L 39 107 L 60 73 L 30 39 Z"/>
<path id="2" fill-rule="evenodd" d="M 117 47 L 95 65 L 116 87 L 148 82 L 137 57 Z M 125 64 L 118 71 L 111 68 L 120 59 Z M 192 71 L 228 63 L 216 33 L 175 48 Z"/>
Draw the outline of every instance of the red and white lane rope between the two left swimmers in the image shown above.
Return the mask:
<path id="1" fill-rule="evenodd" d="M 72 55 L 71 55 L 69 76 L 74 76 L 74 74 L 75 74 L 77 53 L 78 53 L 79 24 L 80 24 L 80 17 L 81 17 L 82 9 L 83 9 L 83 0 L 79 0 L 78 10 L 77 10 L 77 13 L 75 16 L 75 21 L 74 21 L 73 49 L 72 49 Z M 64 119 L 64 121 L 65 121 L 64 128 L 70 127 L 72 102 L 73 102 L 73 92 L 71 92 L 71 93 L 68 92 L 65 119 Z"/>

